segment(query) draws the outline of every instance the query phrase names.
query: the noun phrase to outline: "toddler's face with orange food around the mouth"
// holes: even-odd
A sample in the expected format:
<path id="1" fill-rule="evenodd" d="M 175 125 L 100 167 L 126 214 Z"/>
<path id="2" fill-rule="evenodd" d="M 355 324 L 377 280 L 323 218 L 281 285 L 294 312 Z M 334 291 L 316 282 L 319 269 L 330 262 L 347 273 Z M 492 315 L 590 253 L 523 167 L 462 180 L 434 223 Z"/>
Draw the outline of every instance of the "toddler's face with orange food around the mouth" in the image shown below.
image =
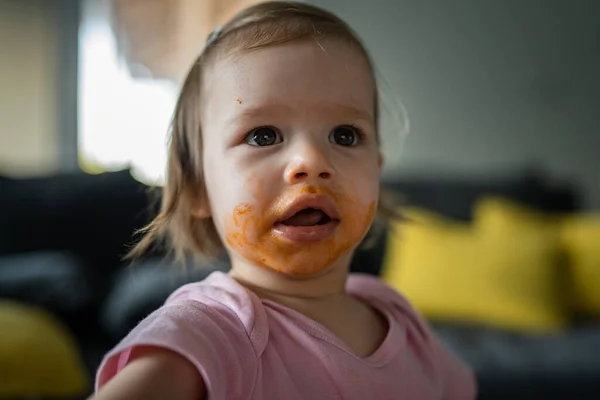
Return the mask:
<path id="1" fill-rule="evenodd" d="M 204 176 L 234 268 L 319 274 L 347 263 L 373 221 L 374 82 L 358 51 L 321 45 L 224 57 L 203 78 Z"/>

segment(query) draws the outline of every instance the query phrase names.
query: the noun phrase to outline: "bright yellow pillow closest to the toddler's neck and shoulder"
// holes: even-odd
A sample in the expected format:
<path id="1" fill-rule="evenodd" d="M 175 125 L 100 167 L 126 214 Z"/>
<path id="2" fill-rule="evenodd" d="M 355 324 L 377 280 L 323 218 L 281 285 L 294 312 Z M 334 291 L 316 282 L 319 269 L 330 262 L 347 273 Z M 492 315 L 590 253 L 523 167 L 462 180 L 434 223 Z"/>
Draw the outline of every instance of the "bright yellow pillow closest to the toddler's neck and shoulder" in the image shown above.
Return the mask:
<path id="1" fill-rule="evenodd" d="M 472 290 L 480 271 L 472 260 L 478 247 L 467 224 L 423 210 L 403 210 L 409 220 L 392 226 L 382 277 L 426 317 L 479 319 Z"/>

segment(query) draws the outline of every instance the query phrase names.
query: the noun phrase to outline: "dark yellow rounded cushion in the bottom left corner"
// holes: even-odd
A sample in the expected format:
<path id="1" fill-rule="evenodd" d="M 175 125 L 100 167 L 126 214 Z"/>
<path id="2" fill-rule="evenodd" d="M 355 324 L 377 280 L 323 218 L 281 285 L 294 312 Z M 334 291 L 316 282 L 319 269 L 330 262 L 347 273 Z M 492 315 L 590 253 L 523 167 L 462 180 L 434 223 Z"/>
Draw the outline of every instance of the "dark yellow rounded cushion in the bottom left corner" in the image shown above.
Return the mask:
<path id="1" fill-rule="evenodd" d="M 82 396 L 88 378 L 68 332 L 51 315 L 0 301 L 0 398 Z"/>

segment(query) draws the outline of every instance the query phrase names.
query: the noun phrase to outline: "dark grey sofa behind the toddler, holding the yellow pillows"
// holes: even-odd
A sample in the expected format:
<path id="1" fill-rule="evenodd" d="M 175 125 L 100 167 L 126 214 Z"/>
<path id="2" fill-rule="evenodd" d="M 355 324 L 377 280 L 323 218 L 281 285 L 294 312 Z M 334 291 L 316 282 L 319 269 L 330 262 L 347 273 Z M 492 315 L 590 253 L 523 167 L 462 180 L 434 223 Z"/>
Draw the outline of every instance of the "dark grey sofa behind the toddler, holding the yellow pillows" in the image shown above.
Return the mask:
<path id="1" fill-rule="evenodd" d="M 478 181 L 397 178 L 387 189 L 460 220 L 473 203 L 497 194 L 548 212 L 578 209 L 577 189 L 538 174 Z M 128 171 L 102 175 L 0 178 L 0 298 L 39 305 L 77 338 L 92 375 L 104 354 L 179 285 L 228 269 L 226 257 L 183 271 L 156 252 L 127 267 L 121 261 L 135 229 L 156 211 L 147 187 Z M 359 251 L 352 270 L 378 275 L 385 234 Z M 600 325 L 580 321 L 558 337 L 531 337 L 480 326 L 431 321 L 440 337 L 473 366 L 486 399 L 599 399 Z M 91 390 L 91 388 L 90 388 Z"/>

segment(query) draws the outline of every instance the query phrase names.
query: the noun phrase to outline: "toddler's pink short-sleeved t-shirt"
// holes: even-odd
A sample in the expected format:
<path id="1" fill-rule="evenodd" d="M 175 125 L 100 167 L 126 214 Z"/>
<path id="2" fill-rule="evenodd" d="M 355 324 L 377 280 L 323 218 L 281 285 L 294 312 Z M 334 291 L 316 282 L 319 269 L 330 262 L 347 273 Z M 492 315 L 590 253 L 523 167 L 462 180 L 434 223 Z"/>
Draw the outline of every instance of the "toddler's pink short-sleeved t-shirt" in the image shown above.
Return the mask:
<path id="1" fill-rule="evenodd" d="M 150 345 L 195 365 L 210 400 L 475 398 L 471 371 L 407 300 L 364 275 L 351 275 L 347 291 L 388 320 L 386 338 L 366 358 L 354 355 L 321 324 L 214 272 L 175 291 L 110 351 L 96 388 L 127 364 L 133 347 Z"/>

